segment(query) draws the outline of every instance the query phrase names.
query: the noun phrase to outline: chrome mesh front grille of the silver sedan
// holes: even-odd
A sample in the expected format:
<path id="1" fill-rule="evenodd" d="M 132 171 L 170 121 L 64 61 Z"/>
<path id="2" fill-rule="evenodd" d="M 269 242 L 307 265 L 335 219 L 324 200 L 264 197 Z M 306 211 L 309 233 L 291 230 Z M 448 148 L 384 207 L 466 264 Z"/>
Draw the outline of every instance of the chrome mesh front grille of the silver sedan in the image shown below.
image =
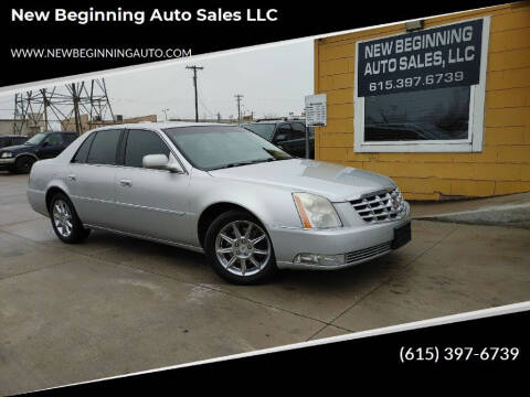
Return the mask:
<path id="1" fill-rule="evenodd" d="M 398 187 L 369 193 L 350 203 L 367 223 L 399 219 L 405 211 L 403 196 Z"/>

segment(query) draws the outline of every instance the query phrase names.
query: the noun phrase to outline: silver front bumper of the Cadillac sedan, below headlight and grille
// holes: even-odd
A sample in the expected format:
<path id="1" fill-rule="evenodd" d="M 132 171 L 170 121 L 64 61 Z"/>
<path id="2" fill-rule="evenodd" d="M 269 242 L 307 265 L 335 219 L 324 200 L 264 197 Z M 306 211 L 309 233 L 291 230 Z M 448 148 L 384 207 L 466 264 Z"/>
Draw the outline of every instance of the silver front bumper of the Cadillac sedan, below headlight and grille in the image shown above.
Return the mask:
<path id="1" fill-rule="evenodd" d="M 399 221 L 363 224 L 328 230 L 301 228 L 273 228 L 269 230 L 276 255 L 276 265 L 280 269 L 333 270 L 356 266 L 386 255 L 409 243 L 410 237 L 396 236 L 395 229 L 410 225 L 410 207 Z M 410 234 L 409 234 L 410 236 Z M 319 254 L 343 256 L 343 260 L 333 264 L 296 262 L 299 254 Z"/>

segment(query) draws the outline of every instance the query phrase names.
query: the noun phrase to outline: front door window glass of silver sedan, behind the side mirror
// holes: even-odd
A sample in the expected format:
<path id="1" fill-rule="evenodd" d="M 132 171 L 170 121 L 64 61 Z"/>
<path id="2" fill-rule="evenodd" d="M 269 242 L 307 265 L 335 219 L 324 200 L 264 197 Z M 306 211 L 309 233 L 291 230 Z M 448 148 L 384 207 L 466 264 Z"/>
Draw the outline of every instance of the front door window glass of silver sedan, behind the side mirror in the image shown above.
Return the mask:
<path id="1" fill-rule="evenodd" d="M 125 165 L 141 168 L 144 155 L 147 154 L 169 157 L 169 148 L 153 131 L 130 130 L 125 148 Z"/>

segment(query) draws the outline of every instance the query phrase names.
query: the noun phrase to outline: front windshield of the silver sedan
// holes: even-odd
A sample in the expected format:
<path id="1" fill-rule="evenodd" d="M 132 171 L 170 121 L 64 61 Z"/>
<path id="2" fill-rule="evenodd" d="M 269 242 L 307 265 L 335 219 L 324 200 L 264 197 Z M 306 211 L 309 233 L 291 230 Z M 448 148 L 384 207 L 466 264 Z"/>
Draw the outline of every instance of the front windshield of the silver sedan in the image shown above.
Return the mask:
<path id="1" fill-rule="evenodd" d="M 193 167 L 205 171 L 292 159 L 282 149 L 241 127 L 177 127 L 163 131 Z"/>

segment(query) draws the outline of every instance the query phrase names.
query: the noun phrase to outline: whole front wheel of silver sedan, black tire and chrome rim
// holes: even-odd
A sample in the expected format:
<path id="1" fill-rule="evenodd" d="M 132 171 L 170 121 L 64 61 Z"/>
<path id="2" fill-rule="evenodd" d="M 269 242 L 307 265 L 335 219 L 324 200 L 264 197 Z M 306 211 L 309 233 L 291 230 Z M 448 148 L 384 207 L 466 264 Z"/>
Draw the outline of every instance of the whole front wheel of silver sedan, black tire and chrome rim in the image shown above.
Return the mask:
<path id="1" fill-rule="evenodd" d="M 263 282 L 276 271 L 271 237 L 256 217 L 243 211 L 220 215 L 206 232 L 204 248 L 213 269 L 230 282 Z"/>

